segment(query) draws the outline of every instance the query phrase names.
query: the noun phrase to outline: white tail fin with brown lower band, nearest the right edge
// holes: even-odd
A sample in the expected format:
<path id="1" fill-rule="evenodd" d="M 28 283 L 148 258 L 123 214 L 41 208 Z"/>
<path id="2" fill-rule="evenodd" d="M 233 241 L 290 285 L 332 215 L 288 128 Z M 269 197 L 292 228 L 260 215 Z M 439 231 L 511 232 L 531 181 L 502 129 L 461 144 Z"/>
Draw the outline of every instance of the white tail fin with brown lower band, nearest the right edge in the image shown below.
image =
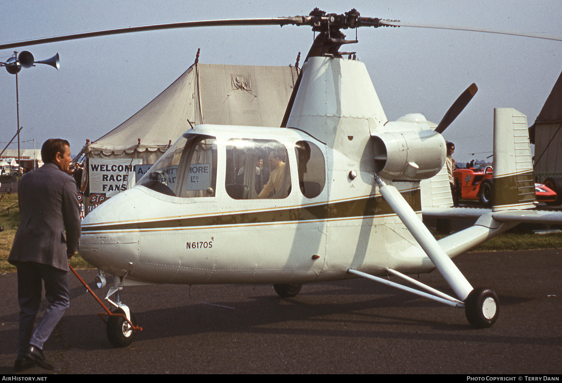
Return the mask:
<path id="1" fill-rule="evenodd" d="M 493 211 L 535 206 L 527 116 L 513 108 L 493 110 Z"/>

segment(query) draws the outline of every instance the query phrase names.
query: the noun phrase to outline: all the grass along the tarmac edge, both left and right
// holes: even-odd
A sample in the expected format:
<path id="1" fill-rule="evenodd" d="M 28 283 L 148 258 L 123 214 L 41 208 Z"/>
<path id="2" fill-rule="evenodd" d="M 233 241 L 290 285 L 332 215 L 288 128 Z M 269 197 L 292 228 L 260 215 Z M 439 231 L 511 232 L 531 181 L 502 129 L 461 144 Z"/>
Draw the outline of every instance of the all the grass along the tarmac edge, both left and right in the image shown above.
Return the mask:
<path id="1" fill-rule="evenodd" d="M 0 201 L 0 211 L 17 203 L 17 194 L 6 194 Z M 20 223 L 20 209 L 10 208 L 10 211 L 0 213 L 0 272 L 16 271 L 16 267 L 8 263 L 8 255 L 12 248 L 13 237 L 16 235 Z M 436 235 L 436 238 L 443 236 Z M 532 250 L 532 249 L 557 249 L 562 248 L 562 234 L 515 234 L 504 233 L 472 249 L 472 252 L 488 252 L 501 250 Z M 94 268 L 80 256 L 71 259 L 70 265 L 74 268 Z"/>

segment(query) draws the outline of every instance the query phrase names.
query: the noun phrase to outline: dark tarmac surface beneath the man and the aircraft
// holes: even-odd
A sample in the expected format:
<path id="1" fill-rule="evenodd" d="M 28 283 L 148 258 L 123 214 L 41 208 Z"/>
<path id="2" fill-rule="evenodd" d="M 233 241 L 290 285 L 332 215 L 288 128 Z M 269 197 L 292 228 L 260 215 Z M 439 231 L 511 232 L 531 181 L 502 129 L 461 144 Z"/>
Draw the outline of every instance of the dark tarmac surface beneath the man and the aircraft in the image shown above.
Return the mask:
<path id="1" fill-rule="evenodd" d="M 44 352 L 55 373 L 562 372 L 562 249 L 454 261 L 473 286 L 496 291 L 500 317 L 490 329 L 470 327 L 464 309 L 364 279 L 308 284 L 290 299 L 270 285 L 130 286 L 121 299 L 143 331 L 116 349 L 102 310 L 69 275 L 70 308 Z M 79 273 L 93 285 L 96 271 Z M 452 294 L 437 272 L 420 279 Z M 11 374 L 15 273 L 0 275 L 0 291 L 0 373 Z"/>

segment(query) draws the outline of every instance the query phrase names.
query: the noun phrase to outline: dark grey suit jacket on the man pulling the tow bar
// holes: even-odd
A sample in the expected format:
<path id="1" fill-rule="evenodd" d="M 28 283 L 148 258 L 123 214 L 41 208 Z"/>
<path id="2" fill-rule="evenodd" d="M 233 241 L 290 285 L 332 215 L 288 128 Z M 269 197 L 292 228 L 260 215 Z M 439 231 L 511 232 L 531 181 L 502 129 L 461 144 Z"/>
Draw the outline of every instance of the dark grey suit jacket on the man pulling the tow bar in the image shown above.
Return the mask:
<path id="1" fill-rule="evenodd" d="M 8 262 L 38 262 L 68 271 L 67 252 L 78 251 L 80 239 L 74 179 L 46 163 L 21 177 L 17 195 L 20 226 Z"/>

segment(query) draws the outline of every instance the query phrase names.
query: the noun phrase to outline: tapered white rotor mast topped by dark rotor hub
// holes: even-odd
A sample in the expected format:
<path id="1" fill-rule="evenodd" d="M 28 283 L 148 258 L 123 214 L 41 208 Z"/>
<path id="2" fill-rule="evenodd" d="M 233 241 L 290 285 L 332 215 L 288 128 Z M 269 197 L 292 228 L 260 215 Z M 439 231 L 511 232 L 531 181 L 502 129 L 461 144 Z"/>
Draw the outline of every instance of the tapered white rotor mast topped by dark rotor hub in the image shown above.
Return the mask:
<path id="1" fill-rule="evenodd" d="M 384 26 L 380 19 L 360 17 L 355 9 L 337 15 L 315 8 L 310 12 L 312 30 L 319 35 L 312 43 L 289 99 L 282 127 L 296 127 L 314 138 L 373 168 L 370 132 L 387 122 L 377 92 L 364 63 L 345 60 L 340 52 L 346 40 L 342 29 Z M 367 148 L 367 149 L 365 149 Z"/>

